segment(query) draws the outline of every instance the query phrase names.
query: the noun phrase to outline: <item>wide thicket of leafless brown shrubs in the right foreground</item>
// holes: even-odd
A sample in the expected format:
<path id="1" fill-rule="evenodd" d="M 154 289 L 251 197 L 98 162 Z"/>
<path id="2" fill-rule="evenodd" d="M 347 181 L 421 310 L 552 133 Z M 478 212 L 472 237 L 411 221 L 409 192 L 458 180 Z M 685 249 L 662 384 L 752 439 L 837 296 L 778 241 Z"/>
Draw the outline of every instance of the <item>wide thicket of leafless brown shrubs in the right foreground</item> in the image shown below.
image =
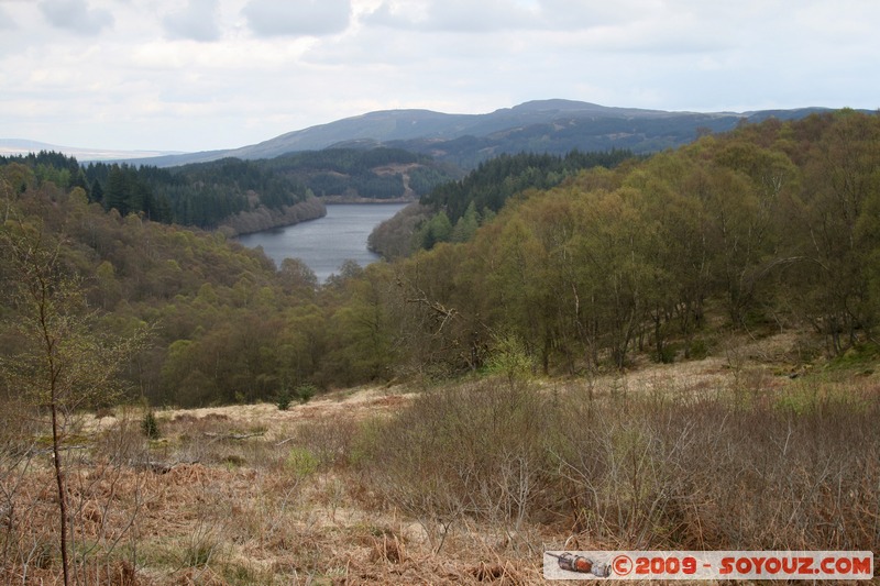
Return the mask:
<path id="1" fill-rule="evenodd" d="M 770 392 L 591 396 L 499 376 L 362 427 L 352 460 L 372 494 L 442 535 L 466 518 L 556 520 L 634 550 L 877 551 L 876 386 Z"/>

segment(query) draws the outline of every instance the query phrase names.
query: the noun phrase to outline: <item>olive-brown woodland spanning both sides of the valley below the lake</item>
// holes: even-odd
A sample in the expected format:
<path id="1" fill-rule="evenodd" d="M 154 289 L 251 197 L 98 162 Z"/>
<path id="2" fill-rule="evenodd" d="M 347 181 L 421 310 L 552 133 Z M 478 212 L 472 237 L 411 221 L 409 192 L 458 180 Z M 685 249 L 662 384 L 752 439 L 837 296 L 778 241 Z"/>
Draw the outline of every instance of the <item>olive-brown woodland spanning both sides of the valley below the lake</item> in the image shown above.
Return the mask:
<path id="1" fill-rule="evenodd" d="M 472 237 L 366 269 L 345 265 L 322 286 L 301 263 L 275 267 L 220 233 L 160 223 L 134 204 L 108 212 L 111 172 L 132 186 L 170 172 L 94 165 L 80 175 L 64 157 L 29 161 L 1 162 L 3 237 L 57 248 L 57 270 L 81 277 L 99 331 L 151 329 L 127 377 L 130 392 L 155 405 L 449 376 L 512 345 L 537 372 L 580 375 L 625 368 L 637 353 L 698 358 L 721 330 L 809 327 L 829 356 L 876 343 L 877 115 L 746 124 L 612 169 L 557 172 L 550 187 L 544 176 L 534 185 L 516 176 L 519 195 L 494 215 L 460 209 L 450 195 L 460 186 L 446 187 L 431 204 L 448 219 L 468 208 L 486 215 Z M 215 167 L 226 168 L 263 169 L 249 189 L 284 180 L 252 163 Z M 152 194 L 174 219 L 177 203 Z M 18 265 L 0 262 L 4 284 L 15 279 Z M 3 356 L 22 351 L 8 327 L 20 310 L 4 298 Z"/>

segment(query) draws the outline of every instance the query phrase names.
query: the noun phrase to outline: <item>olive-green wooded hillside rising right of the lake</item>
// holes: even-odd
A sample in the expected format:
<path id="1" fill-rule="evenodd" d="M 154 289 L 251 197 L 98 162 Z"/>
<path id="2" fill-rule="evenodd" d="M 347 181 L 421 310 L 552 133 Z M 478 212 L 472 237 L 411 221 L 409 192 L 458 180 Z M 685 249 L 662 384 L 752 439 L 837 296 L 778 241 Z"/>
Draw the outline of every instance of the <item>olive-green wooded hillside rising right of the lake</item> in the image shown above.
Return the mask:
<path id="1" fill-rule="evenodd" d="M 875 341 L 879 210 L 877 115 L 769 120 L 531 192 L 398 272 L 424 300 L 420 350 L 459 367 L 498 335 L 578 373 L 700 356 L 716 328 L 756 324 L 809 325 L 839 354 Z"/>

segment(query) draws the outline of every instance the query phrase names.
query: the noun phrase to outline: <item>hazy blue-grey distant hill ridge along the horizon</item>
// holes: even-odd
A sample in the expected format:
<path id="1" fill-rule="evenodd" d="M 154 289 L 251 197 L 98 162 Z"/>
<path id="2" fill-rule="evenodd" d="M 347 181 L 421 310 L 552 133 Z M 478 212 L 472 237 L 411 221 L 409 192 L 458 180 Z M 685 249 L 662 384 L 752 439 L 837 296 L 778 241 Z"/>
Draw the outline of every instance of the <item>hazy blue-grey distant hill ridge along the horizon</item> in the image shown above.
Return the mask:
<path id="1" fill-rule="evenodd" d="M 572 100 L 530 101 L 487 114 L 448 114 L 430 110 L 386 110 L 345 118 L 328 124 L 288 132 L 258 144 L 224 151 L 164 154 L 143 157 L 90 156 L 55 147 L 80 159 L 128 159 L 131 164 L 173 167 L 226 157 L 274 158 L 284 154 L 327 147 L 389 146 L 428 154 L 438 162 L 471 169 L 499 154 L 521 152 L 562 155 L 627 148 L 636 154 L 680 146 L 701 132 L 726 132 L 745 121 L 776 117 L 800 119 L 825 108 L 755 112 L 667 112 L 638 108 L 609 108 Z M 33 143 L 37 144 L 37 143 Z M 0 148 L 3 142 L 0 141 Z M 50 146 L 50 145 L 46 145 Z M 81 150 L 86 151 L 86 150 Z M 101 154 L 101 156 L 97 156 Z"/>

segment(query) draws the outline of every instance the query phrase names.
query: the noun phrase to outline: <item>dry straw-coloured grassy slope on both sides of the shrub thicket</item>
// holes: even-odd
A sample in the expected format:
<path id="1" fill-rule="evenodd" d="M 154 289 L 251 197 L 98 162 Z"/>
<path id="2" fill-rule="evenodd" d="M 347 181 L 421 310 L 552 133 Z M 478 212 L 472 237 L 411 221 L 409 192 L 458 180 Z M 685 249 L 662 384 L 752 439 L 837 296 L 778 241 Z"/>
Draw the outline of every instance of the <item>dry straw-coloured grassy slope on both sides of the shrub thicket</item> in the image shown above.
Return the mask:
<path id="1" fill-rule="evenodd" d="M 816 367 L 792 378 L 790 365 L 803 343 L 792 334 L 727 340 L 703 361 L 544 380 L 539 388 L 562 400 L 583 400 L 587 392 L 596 400 L 623 395 L 682 402 L 724 396 L 784 399 L 809 408 L 816 394 L 846 392 L 876 402 L 880 378 L 870 363 Z M 69 452 L 77 526 L 85 542 L 100 544 L 97 551 L 122 535 L 110 562 L 96 564 L 94 573 L 105 579 L 129 576 L 136 581 L 132 584 L 304 584 L 312 578 L 317 584 L 490 578 L 527 584 L 541 583 L 543 550 L 634 545 L 585 529 L 576 516 L 536 516 L 515 530 L 468 518 L 444 527 L 398 507 L 364 464 L 364 454 L 375 447 L 365 444 L 380 436 L 370 432 L 375 421 L 403 412 L 420 390 L 348 389 L 287 411 L 274 405 L 162 411 L 156 413 L 162 438 L 148 443 L 140 433 L 138 409 L 118 408 L 118 417 L 100 420 L 86 417 L 79 436 L 94 447 Z M 637 401 L 626 405 L 638 412 Z M 53 504 L 45 488 L 52 477 L 48 462 L 34 463 L 20 488 L 30 505 L 19 530 L 48 543 Z M 700 539 L 710 539 L 710 529 Z M 45 548 L 46 559 L 31 564 L 34 579 L 57 576 Z"/>

